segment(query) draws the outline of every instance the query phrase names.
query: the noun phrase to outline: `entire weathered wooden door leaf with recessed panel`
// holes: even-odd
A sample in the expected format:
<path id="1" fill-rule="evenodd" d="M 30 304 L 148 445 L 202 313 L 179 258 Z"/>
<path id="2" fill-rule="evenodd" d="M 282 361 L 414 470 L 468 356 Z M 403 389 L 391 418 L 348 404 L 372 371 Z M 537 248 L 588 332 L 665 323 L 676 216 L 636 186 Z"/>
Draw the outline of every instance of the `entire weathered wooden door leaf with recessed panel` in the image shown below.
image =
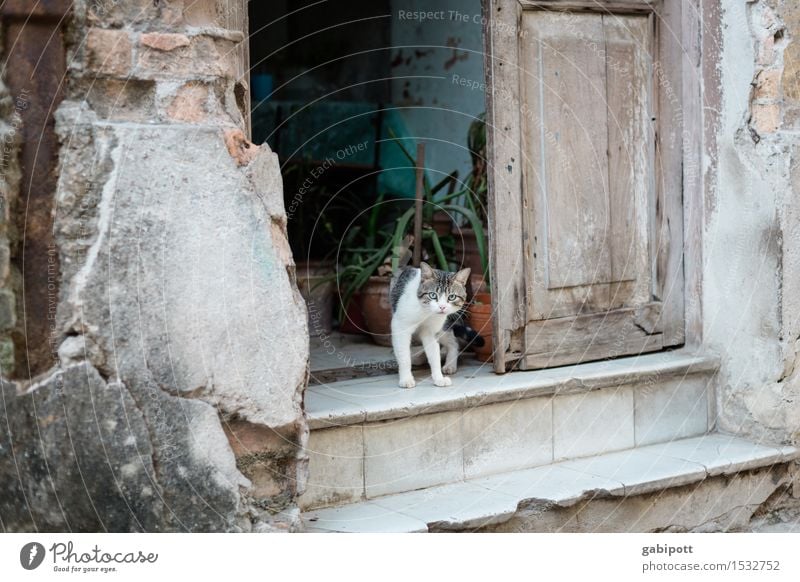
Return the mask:
<path id="1" fill-rule="evenodd" d="M 679 0 L 486 8 L 497 371 L 682 344 Z"/>

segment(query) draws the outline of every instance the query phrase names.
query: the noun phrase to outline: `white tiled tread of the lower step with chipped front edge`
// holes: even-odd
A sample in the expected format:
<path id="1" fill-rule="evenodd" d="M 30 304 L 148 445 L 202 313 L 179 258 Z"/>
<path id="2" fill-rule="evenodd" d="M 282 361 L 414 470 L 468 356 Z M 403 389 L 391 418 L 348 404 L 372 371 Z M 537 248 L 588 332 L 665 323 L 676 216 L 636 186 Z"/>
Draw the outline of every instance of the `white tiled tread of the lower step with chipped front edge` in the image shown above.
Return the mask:
<path id="1" fill-rule="evenodd" d="M 643 495 L 798 456 L 794 447 L 710 434 L 318 509 L 303 522 L 313 532 L 470 530 L 503 523 L 530 503 Z"/>

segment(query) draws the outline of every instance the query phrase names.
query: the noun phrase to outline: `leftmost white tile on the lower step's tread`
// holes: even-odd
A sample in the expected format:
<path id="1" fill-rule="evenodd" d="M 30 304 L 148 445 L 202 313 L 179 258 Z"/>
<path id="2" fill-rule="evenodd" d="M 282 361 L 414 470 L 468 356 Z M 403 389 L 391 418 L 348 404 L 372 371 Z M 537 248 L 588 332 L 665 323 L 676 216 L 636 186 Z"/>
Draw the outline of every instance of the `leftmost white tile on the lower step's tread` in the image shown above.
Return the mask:
<path id="1" fill-rule="evenodd" d="M 428 531 L 425 523 L 418 519 L 401 515 L 369 502 L 311 511 L 303 514 L 303 523 L 309 531 L 345 533 L 411 533 Z"/>

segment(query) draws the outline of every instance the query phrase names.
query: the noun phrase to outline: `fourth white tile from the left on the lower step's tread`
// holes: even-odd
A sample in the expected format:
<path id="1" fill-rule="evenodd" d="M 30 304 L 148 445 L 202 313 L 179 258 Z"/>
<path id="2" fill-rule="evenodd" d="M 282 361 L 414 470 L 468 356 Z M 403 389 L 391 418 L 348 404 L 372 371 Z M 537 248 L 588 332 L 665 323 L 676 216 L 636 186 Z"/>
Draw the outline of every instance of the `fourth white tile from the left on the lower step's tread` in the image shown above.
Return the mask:
<path id="1" fill-rule="evenodd" d="M 565 461 L 561 465 L 622 482 L 623 490 L 610 491 L 614 495 L 640 495 L 695 483 L 706 476 L 705 469 L 698 463 L 648 454 L 637 449 Z"/>

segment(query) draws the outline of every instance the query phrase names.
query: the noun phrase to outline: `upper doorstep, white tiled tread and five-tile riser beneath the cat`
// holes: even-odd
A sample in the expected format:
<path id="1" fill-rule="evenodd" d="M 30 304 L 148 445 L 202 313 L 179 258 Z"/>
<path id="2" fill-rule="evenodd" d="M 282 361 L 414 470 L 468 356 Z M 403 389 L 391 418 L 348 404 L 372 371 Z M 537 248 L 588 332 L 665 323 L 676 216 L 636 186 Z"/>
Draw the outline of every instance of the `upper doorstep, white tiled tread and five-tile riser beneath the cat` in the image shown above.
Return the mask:
<path id="1" fill-rule="evenodd" d="M 718 361 L 680 351 L 453 385 L 394 375 L 309 387 L 303 510 L 708 433 Z"/>

